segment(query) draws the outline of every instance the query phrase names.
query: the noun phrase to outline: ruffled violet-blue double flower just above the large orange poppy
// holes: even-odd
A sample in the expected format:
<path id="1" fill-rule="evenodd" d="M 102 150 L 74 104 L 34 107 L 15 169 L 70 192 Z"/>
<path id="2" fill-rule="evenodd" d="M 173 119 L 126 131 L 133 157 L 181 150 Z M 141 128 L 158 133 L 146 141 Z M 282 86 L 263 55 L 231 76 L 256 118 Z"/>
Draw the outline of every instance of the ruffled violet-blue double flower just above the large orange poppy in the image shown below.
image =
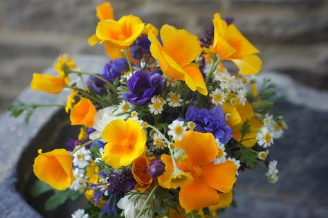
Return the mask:
<path id="1" fill-rule="evenodd" d="M 233 137 L 233 130 L 226 124 L 222 107 L 215 106 L 208 110 L 190 106 L 185 113 L 185 120 L 195 123 L 194 131 L 210 132 L 221 143 L 226 144 Z"/>

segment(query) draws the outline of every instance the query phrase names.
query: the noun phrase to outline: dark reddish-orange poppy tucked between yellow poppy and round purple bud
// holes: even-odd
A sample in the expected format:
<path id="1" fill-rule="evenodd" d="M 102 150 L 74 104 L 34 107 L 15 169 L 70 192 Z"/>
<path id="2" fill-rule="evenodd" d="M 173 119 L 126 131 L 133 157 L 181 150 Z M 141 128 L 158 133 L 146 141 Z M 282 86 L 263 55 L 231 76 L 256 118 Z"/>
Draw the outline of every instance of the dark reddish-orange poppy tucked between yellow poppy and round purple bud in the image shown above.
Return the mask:
<path id="1" fill-rule="evenodd" d="M 136 187 L 140 192 L 145 191 L 147 188 L 152 188 L 155 181 L 150 177 L 147 170 L 149 168 L 150 161 L 154 160 L 154 156 L 147 157 L 145 155 L 139 156 L 134 160 L 132 165 L 132 174 L 134 179 L 136 179 Z"/>

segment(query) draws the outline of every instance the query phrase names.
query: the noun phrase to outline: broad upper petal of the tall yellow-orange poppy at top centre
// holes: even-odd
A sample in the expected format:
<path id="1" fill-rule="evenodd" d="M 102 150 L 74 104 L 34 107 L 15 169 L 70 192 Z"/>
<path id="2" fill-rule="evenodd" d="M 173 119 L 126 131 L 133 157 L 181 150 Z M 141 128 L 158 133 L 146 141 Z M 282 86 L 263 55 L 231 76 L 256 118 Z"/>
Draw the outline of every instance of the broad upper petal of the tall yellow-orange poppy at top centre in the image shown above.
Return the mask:
<path id="1" fill-rule="evenodd" d="M 161 39 L 164 52 L 182 67 L 190 64 L 201 54 L 197 36 L 186 30 L 177 30 L 174 26 L 165 24 L 161 28 Z"/>

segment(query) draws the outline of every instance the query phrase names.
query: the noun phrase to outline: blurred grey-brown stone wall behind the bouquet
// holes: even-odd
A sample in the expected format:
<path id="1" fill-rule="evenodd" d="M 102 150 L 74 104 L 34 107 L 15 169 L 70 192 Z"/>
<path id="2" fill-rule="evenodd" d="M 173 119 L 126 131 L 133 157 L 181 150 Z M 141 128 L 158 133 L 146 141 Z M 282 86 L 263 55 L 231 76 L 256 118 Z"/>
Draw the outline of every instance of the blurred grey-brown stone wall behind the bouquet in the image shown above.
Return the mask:
<path id="1" fill-rule="evenodd" d="M 89 0 L 0 0 L 0 111 L 57 55 L 101 54 L 90 48 L 94 7 Z M 214 12 L 235 24 L 259 48 L 264 69 L 328 89 L 326 0 L 113 0 L 116 18 L 134 14 L 201 35 Z"/>

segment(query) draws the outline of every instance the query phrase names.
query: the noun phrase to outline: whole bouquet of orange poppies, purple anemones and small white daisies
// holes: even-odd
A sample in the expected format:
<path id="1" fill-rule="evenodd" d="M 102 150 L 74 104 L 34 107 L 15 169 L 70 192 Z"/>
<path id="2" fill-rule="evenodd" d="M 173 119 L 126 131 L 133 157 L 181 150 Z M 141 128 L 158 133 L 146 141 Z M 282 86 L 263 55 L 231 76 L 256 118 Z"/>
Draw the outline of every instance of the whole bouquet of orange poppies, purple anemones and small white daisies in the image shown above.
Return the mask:
<path id="1" fill-rule="evenodd" d="M 215 14 L 199 39 L 133 15 L 116 20 L 108 2 L 96 12 L 89 44 L 102 44 L 111 57 L 103 71 L 78 71 L 61 55 L 58 75 L 34 73 L 31 82 L 53 94 L 71 89 L 64 108 L 81 127 L 65 148 L 44 147 L 35 158 L 40 181 L 32 190 L 54 192 L 46 210 L 84 194 L 89 207 L 72 217 L 217 217 L 235 204 L 239 173 L 260 165 L 269 182 L 278 180 L 269 147 L 286 129 L 273 111 L 281 97 L 270 80 L 257 84 L 259 51 L 233 19 Z M 80 80 L 70 81 L 73 74 Z M 28 120 L 49 106 L 8 109 L 27 111 Z"/>

